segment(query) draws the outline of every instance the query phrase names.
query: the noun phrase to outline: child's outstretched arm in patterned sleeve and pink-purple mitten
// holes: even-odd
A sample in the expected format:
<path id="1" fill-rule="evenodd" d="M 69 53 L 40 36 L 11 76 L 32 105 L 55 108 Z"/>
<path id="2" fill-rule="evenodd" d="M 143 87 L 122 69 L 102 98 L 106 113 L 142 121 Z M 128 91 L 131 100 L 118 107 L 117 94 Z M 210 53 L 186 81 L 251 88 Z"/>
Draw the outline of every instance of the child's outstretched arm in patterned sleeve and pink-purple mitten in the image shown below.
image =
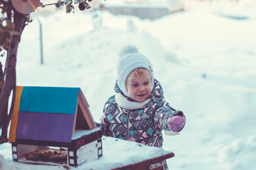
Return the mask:
<path id="1" fill-rule="evenodd" d="M 165 131 L 179 132 L 183 129 L 186 117 L 182 111 L 175 111 L 168 102 L 163 102 L 155 113 L 155 125 Z"/>

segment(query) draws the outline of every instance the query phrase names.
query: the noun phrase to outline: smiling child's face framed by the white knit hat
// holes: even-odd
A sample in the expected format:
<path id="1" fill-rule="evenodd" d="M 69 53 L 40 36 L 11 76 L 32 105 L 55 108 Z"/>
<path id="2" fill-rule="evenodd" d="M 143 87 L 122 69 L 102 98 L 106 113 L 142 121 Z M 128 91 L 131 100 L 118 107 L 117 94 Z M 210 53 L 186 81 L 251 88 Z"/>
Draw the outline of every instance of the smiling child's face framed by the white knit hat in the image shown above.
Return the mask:
<path id="1" fill-rule="evenodd" d="M 127 79 L 126 89 L 130 98 L 143 102 L 150 95 L 152 84 L 149 72 L 140 75 L 138 78 Z"/>

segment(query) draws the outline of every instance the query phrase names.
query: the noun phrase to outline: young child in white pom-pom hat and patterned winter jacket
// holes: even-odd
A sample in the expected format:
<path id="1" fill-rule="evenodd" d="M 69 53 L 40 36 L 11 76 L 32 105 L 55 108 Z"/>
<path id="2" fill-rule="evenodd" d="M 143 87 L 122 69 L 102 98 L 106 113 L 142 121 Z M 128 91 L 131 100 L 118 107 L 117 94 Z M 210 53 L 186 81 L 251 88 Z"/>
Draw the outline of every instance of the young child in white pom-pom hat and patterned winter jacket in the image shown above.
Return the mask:
<path id="1" fill-rule="evenodd" d="M 162 147 L 162 130 L 179 132 L 185 125 L 183 112 L 165 101 L 152 64 L 134 46 L 120 54 L 114 91 L 100 118 L 103 135 Z"/>

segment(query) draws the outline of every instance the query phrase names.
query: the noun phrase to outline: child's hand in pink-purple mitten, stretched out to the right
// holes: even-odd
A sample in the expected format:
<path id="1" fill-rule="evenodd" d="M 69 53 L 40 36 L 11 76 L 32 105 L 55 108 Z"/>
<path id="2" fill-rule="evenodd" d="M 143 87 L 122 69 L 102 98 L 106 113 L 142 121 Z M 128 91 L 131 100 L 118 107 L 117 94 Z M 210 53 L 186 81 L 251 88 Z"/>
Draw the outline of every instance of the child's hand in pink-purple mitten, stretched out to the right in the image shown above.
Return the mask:
<path id="1" fill-rule="evenodd" d="M 167 123 L 171 131 L 179 132 L 185 125 L 186 117 L 182 111 L 178 111 L 172 118 L 169 118 Z"/>

